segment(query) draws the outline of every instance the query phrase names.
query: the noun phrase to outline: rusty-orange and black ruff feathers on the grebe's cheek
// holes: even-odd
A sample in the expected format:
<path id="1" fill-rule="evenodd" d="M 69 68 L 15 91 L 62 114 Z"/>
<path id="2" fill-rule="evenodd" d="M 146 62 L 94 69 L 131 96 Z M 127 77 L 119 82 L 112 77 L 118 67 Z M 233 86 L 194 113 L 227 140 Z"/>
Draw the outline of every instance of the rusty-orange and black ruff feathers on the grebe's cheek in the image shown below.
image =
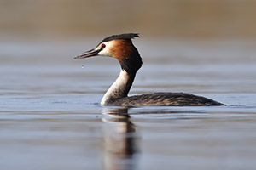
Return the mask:
<path id="1" fill-rule="evenodd" d="M 142 58 L 131 39 L 113 40 L 113 48 L 110 49 L 110 53 L 119 60 L 122 69 L 127 72 L 137 72 L 143 64 Z"/>

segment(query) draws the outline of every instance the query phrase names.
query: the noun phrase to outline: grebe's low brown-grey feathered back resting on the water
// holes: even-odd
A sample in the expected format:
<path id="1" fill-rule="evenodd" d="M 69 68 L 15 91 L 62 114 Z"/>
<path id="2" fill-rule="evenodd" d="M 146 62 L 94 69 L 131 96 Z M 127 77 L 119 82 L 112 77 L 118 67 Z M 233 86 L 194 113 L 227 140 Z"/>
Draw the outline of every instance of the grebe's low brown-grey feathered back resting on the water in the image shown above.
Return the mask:
<path id="1" fill-rule="evenodd" d="M 109 105 L 123 106 L 210 106 L 224 105 L 212 99 L 184 93 L 142 94 L 114 99 Z"/>

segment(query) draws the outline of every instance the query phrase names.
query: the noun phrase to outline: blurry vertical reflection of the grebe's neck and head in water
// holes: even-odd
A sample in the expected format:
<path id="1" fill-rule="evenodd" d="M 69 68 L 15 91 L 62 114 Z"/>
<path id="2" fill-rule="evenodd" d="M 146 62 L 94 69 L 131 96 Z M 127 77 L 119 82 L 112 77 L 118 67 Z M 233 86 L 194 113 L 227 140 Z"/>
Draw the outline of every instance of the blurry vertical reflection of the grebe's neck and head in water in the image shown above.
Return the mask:
<path id="1" fill-rule="evenodd" d="M 104 108 L 108 117 L 104 127 L 104 166 L 107 170 L 135 170 L 138 159 L 138 136 L 127 108 Z"/>

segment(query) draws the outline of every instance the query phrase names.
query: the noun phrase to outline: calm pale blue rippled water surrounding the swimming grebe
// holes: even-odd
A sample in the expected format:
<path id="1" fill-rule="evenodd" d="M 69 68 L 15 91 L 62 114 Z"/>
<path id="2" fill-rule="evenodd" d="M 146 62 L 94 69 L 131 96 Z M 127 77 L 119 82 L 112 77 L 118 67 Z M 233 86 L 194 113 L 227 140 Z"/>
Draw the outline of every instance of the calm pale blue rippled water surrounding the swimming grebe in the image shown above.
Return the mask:
<path id="1" fill-rule="evenodd" d="M 96 42 L 0 43 L 1 169 L 255 168 L 255 42 L 135 41 L 144 64 L 131 94 L 228 106 L 129 110 L 99 105 L 117 61 L 73 60 Z"/>

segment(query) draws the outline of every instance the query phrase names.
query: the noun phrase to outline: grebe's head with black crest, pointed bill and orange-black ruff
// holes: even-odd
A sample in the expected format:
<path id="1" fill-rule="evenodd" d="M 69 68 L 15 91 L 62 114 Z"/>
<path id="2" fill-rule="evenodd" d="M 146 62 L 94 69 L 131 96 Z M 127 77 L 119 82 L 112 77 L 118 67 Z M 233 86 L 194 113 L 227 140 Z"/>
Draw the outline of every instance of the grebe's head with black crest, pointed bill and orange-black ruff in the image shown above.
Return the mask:
<path id="1" fill-rule="evenodd" d="M 123 70 L 136 72 L 143 64 L 137 48 L 132 44 L 131 39 L 139 37 L 138 34 L 119 34 L 106 37 L 96 48 L 93 48 L 74 59 L 84 59 L 96 55 L 108 56 L 118 59 Z"/>

